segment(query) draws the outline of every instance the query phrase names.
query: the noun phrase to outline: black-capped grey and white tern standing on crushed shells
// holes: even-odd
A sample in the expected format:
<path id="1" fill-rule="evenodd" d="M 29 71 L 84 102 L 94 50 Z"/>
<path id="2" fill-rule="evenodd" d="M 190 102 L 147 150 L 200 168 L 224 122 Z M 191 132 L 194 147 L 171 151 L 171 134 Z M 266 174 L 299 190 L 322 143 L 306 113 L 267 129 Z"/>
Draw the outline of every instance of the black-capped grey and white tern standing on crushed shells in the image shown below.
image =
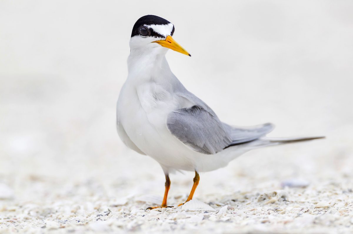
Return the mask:
<path id="1" fill-rule="evenodd" d="M 128 76 L 116 104 L 122 142 L 156 160 L 166 178 L 162 204 L 149 209 L 167 207 L 169 173 L 195 172 L 190 194 L 179 204 L 183 205 L 193 198 L 199 172 L 225 167 L 252 149 L 324 138 L 269 138 L 271 123 L 235 127 L 220 121 L 170 70 L 165 57 L 169 49 L 191 56 L 173 39 L 174 30 L 172 23 L 154 15 L 136 21 L 129 42 Z"/>

